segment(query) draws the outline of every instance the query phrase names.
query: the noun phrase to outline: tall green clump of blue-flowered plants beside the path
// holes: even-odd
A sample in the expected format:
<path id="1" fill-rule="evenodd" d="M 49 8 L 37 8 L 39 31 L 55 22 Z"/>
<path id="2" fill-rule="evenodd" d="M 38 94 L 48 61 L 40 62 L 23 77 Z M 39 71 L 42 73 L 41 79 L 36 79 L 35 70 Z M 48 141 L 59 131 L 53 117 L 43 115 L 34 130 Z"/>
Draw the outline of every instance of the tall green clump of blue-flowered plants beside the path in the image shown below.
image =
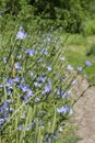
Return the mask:
<path id="1" fill-rule="evenodd" d="M 60 30 L 9 25 L 0 35 L 1 143 L 75 143 L 69 123 L 75 75 L 64 59 Z"/>

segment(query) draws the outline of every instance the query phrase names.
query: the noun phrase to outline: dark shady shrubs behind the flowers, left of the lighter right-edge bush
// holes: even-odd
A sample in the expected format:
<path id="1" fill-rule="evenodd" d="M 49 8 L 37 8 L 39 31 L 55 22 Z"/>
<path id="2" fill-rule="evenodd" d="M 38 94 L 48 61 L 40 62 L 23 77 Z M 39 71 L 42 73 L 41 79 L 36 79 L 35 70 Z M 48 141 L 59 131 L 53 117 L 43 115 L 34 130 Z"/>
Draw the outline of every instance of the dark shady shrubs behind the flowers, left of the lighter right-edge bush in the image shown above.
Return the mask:
<path id="1" fill-rule="evenodd" d="M 41 19 L 49 19 L 60 21 L 61 25 L 67 32 L 80 32 L 80 25 L 83 20 L 83 10 L 79 1 L 59 0 L 56 2 L 44 0 L 1 0 L 0 9 L 4 14 L 12 14 L 22 20 L 27 21 L 39 16 Z"/>

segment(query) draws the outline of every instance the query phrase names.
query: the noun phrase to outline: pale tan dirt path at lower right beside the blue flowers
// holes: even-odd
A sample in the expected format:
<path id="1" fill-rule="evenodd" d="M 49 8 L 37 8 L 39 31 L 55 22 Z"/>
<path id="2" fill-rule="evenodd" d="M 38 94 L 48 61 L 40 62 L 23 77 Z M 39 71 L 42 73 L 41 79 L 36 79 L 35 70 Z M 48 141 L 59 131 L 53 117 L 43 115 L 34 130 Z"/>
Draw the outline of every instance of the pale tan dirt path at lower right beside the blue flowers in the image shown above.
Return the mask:
<path id="1" fill-rule="evenodd" d="M 74 122 L 78 134 L 83 139 L 78 143 L 95 143 L 95 87 L 85 84 L 86 90 L 74 105 Z"/>

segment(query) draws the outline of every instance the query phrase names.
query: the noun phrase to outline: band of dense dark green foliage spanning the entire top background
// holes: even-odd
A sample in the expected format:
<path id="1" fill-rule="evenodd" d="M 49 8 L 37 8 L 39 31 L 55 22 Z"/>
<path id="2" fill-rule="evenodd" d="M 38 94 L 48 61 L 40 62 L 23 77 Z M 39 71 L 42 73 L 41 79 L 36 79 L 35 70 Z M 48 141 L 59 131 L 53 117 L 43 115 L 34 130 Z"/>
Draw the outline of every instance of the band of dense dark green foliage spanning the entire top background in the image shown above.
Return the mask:
<path id="1" fill-rule="evenodd" d="M 48 24 L 56 23 L 56 28 L 62 26 L 67 32 L 74 33 L 85 32 L 82 23 L 86 16 L 90 19 L 95 16 L 94 6 L 95 2 L 88 0 L 1 0 L 0 2 L 3 14 L 22 16 L 25 21 L 37 18 L 48 20 Z"/>

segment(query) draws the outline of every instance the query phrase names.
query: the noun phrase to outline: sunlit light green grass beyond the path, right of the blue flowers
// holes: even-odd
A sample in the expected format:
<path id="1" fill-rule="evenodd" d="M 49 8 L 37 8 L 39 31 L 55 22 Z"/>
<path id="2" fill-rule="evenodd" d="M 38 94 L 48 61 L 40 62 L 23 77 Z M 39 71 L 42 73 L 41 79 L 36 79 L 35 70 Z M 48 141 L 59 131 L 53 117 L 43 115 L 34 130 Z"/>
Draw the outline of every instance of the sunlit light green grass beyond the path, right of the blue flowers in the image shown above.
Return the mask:
<path id="1" fill-rule="evenodd" d="M 67 35 L 67 34 L 66 34 Z M 66 37 L 62 35 L 62 37 Z M 86 75 L 90 84 L 95 85 L 95 55 L 87 56 L 87 52 L 95 42 L 95 35 L 84 36 L 81 34 L 70 34 L 66 42 L 64 55 L 69 63 L 76 69 L 84 66 L 85 61 L 92 63 L 91 67 L 85 68 L 82 75 Z"/>

